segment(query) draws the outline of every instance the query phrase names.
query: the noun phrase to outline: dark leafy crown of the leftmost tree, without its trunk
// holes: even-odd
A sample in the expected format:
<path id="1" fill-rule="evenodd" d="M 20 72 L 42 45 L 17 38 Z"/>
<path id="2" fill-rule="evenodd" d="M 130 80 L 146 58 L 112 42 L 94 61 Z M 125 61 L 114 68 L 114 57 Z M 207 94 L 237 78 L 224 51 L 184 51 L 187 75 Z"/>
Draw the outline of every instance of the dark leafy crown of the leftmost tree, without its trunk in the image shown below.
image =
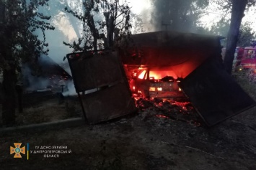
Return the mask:
<path id="1" fill-rule="evenodd" d="M 12 0 L 6 1 L 6 17 L 1 23 L 0 67 L 14 66 L 19 69 L 20 62 L 36 60 L 40 54 L 48 54 L 45 30 L 54 29 L 48 22 L 50 16 L 37 12 L 40 6 L 48 5 L 48 0 Z M 43 33 L 38 39 L 37 32 Z"/>

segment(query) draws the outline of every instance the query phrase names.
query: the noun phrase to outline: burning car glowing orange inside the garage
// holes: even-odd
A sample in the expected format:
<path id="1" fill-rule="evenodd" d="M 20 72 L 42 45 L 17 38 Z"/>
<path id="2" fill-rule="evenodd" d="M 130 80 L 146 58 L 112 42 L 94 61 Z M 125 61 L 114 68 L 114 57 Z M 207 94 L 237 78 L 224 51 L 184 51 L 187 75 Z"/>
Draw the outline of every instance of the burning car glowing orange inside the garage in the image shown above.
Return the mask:
<path id="1" fill-rule="evenodd" d="M 127 65 L 125 66 L 129 70 Z M 185 98 L 182 90 L 177 85 L 182 78 L 174 76 L 169 70 L 150 70 L 138 68 L 132 72 L 129 85 L 131 92 L 138 97 L 146 98 Z"/>

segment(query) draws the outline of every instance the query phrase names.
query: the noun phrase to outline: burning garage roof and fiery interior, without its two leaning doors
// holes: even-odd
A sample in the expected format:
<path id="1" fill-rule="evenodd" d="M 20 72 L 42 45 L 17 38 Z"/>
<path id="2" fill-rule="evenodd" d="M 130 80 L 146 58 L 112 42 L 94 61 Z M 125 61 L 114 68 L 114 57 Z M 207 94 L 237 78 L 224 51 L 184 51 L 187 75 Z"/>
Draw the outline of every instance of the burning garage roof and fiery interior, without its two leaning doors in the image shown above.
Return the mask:
<path id="1" fill-rule="evenodd" d="M 182 97 L 177 83 L 208 57 L 221 58 L 221 37 L 152 32 L 132 39 L 131 55 L 122 55 L 122 59 L 131 77 L 131 90 L 145 97 Z"/>

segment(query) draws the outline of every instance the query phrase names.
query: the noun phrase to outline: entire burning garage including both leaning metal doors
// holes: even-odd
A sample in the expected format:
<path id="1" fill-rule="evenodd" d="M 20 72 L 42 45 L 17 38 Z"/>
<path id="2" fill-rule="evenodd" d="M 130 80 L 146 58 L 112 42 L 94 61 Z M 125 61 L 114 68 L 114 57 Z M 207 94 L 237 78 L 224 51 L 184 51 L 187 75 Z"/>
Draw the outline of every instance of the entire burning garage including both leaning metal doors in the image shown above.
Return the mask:
<path id="1" fill-rule="evenodd" d="M 98 123 L 128 115 L 138 98 L 186 98 L 208 126 L 251 108 L 255 101 L 224 70 L 221 38 L 150 32 L 132 35 L 118 52 L 68 54 L 84 117 Z"/>

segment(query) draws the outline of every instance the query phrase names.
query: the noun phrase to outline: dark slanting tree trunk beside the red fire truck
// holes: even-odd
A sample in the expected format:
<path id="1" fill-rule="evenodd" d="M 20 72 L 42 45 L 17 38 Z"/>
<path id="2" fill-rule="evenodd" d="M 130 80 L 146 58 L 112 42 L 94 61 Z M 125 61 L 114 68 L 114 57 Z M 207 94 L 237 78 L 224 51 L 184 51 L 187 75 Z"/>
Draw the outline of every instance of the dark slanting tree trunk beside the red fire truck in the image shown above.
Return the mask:
<path id="1" fill-rule="evenodd" d="M 237 47 L 239 36 L 239 28 L 244 16 L 244 10 L 247 2 L 247 0 L 232 0 L 231 22 L 226 42 L 226 54 L 224 58 L 224 67 L 229 74 L 231 74 L 232 71 L 234 52 Z"/>

